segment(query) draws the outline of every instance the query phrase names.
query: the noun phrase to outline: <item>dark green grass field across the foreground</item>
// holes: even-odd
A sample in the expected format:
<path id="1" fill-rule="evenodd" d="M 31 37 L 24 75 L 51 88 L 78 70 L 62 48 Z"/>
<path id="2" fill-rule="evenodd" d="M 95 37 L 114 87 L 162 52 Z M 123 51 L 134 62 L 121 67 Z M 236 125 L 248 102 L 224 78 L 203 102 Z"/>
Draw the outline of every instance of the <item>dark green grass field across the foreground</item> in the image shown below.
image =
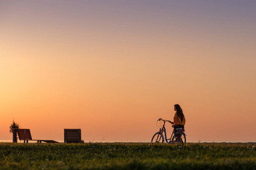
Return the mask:
<path id="1" fill-rule="evenodd" d="M 254 143 L 0 143 L 0 169 L 256 169 Z"/>

